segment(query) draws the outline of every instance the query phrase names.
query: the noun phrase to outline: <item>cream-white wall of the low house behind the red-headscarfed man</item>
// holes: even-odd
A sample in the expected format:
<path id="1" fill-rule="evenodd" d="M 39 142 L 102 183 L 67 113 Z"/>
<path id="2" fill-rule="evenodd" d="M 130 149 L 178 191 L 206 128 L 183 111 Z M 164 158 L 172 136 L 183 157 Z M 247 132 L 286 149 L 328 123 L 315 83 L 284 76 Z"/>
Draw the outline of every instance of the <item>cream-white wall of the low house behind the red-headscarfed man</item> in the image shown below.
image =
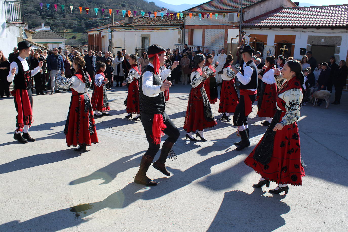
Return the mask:
<path id="1" fill-rule="evenodd" d="M 181 38 L 180 29 L 172 30 L 113 30 L 113 47 L 125 48 L 129 54 L 135 53 L 136 47 L 141 47 L 141 34 L 150 34 L 150 45 L 157 43 L 166 48 L 175 48 L 178 38 Z M 136 34 L 136 35 L 135 35 Z M 136 39 L 136 41 L 135 41 Z M 115 48 L 115 53 L 121 48 Z"/>

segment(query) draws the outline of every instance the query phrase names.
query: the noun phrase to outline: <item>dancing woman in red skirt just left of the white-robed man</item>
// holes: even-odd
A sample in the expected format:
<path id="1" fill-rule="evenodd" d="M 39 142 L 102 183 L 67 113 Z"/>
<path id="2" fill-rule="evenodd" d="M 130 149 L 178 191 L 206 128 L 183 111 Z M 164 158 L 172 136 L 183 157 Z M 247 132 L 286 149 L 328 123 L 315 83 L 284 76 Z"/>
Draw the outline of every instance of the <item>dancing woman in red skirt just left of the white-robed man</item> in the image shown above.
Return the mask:
<path id="1" fill-rule="evenodd" d="M 216 84 L 216 70 L 215 68 L 219 64 L 219 62 L 216 62 L 214 65 L 212 63 L 214 62 L 214 56 L 209 54 L 206 57 L 206 63 L 204 64 L 203 71 L 208 73 L 207 80 L 204 82 L 204 89 L 207 93 L 209 103 L 214 104 L 217 102 L 217 84 Z"/>

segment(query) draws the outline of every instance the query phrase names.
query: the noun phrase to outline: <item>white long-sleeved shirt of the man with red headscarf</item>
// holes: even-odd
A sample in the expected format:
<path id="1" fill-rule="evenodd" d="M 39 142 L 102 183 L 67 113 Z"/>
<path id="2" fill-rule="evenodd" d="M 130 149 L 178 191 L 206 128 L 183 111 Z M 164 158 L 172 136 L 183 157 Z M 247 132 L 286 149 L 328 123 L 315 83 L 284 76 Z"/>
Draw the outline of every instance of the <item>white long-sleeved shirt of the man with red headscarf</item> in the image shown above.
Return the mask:
<path id="1" fill-rule="evenodd" d="M 151 67 L 153 67 L 152 63 L 149 63 Z M 170 69 L 165 69 L 161 70 L 159 69 L 159 75 L 162 79 L 162 81 L 166 80 L 167 77 L 171 74 L 172 70 Z M 143 93 L 148 96 L 148 97 L 157 97 L 159 93 L 163 92 L 161 91 L 161 86 L 162 85 L 153 85 L 153 74 L 150 71 L 146 71 L 143 73 L 143 77 L 141 78 L 143 81 L 143 86 L 142 90 Z"/>

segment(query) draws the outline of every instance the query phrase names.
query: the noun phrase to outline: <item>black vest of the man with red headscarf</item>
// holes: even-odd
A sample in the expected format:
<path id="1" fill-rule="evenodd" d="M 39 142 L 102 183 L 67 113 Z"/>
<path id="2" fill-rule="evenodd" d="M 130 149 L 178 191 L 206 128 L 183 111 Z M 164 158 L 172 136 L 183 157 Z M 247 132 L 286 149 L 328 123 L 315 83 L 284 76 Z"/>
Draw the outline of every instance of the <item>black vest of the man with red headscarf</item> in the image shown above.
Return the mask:
<path id="1" fill-rule="evenodd" d="M 149 97 L 143 93 L 143 74 L 149 71 L 153 74 L 153 85 L 162 85 L 162 79 L 155 74 L 155 70 L 150 65 L 147 65 L 141 74 L 139 85 L 140 111 L 145 114 L 163 114 L 166 108 L 166 102 L 163 92 L 160 92 L 157 97 Z"/>

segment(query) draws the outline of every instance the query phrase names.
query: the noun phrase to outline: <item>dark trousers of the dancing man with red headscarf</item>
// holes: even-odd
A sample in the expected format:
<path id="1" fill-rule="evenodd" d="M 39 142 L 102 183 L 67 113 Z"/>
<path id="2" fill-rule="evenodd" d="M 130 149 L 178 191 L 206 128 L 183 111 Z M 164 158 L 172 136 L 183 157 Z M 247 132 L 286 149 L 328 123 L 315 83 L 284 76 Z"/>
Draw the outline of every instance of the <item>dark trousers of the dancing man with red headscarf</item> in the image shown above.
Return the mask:
<path id="1" fill-rule="evenodd" d="M 153 114 L 141 114 L 141 123 L 143 124 L 146 139 L 149 142 L 149 148 L 145 152 L 144 155 L 149 155 L 151 157 L 155 157 L 156 153 L 159 150 L 160 144 L 154 144 L 152 136 L 152 122 L 153 122 Z M 176 128 L 172 120 L 168 117 L 166 112 L 163 113 L 163 122 L 167 126 L 167 128 L 163 131 L 164 134 L 168 135 L 167 141 L 171 143 L 175 143 L 180 136 L 179 130 Z"/>

